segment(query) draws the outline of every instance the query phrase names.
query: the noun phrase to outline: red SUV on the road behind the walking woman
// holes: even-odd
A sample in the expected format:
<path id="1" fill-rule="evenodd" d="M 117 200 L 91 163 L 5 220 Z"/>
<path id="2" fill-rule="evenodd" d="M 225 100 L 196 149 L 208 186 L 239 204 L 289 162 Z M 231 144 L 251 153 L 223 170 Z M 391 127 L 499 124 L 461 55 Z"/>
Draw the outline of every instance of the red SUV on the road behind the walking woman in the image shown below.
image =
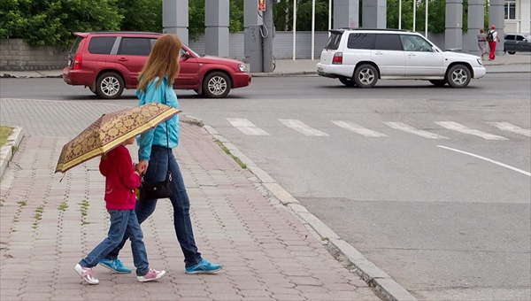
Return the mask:
<path id="1" fill-rule="evenodd" d="M 124 89 L 135 89 L 151 47 L 162 36 L 142 32 L 91 32 L 77 35 L 63 69 L 63 80 L 89 87 L 102 98 L 118 98 Z M 193 89 L 208 97 L 225 97 L 230 89 L 250 85 L 250 73 L 240 61 L 200 56 L 187 46 L 181 49 L 181 72 L 173 89 Z"/>

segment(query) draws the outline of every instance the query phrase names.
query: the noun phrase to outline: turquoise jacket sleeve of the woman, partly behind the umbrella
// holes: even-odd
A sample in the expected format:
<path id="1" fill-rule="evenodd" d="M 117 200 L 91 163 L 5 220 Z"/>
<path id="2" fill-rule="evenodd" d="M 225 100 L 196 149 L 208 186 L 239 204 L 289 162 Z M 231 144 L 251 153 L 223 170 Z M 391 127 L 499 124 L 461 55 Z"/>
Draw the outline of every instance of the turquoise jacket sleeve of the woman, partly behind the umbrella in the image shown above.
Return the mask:
<path id="1" fill-rule="evenodd" d="M 156 87 L 155 83 L 158 81 L 158 79 L 151 81 L 148 84 L 148 87 L 146 89 L 146 93 L 141 93 L 139 91 L 136 91 L 136 96 L 140 98 L 139 105 L 142 104 L 150 104 L 150 103 L 163 103 L 162 95 L 164 93 L 164 81 L 160 83 L 158 87 Z M 151 145 L 153 144 L 153 137 L 154 137 L 155 129 L 150 129 L 149 131 L 142 133 L 138 139 L 136 140 L 136 143 L 138 143 L 138 159 L 140 161 L 142 160 L 150 160 L 150 154 L 151 154 Z"/>

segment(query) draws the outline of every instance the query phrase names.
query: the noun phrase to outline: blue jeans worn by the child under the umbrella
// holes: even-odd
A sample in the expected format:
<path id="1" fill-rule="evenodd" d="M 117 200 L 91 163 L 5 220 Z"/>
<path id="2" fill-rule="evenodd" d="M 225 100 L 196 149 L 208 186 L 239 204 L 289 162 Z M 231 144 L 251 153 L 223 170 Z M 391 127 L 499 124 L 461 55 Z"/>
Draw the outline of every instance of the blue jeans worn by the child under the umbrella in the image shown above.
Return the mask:
<path id="1" fill-rule="evenodd" d="M 107 238 L 99 243 L 86 258 L 81 259 L 80 266 L 93 267 L 104 259 L 107 254 L 114 250 L 124 239 L 131 238 L 131 249 L 133 251 L 133 263 L 136 267 L 136 275 L 143 276 L 150 271 L 148 254 L 142 242 L 142 229 L 136 219 L 135 210 L 107 210 L 111 215 L 111 227 Z"/>

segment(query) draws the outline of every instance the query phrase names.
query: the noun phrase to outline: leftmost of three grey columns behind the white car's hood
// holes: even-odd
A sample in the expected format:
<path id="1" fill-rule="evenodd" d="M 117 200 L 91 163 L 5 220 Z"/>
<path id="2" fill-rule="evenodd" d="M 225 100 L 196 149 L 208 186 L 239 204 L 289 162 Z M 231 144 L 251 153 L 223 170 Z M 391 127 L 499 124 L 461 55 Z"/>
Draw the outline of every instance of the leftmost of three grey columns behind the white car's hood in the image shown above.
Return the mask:
<path id="1" fill-rule="evenodd" d="M 463 0 L 446 0 L 444 48 L 463 50 Z"/>

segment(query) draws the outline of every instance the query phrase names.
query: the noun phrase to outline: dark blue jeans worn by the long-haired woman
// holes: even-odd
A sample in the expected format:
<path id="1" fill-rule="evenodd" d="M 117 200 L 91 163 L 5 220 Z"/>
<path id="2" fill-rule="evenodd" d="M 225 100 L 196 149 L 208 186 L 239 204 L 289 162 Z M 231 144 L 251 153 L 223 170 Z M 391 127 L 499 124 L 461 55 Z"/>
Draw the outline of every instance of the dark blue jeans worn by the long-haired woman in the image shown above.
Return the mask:
<path id="1" fill-rule="evenodd" d="M 181 169 L 177 164 L 175 156 L 171 149 L 162 146 L 153 145 L 151 147 L 150 165 L 143 176 L 146 182 L 164 181 L 169 168 L 172 173 L 173 195 L 170 201 L 173 206 L 173 227 L 175 228 L 175 235 L 181 245 L 181 251 L 184 254 L 184 263 L 186 267 L 195 266 L 201 261 L 201 253 L 197 251 L 196 239 L 194 238 L 194 231 L 192 229 L 192 221 L 190 220 L 190 200 L 184 181 L 182 180 Z M 145 199 L 140 192 L 140 199 L 136 202 L 135 212 L 138 216 L 138 222 L 142 224 L 150 215 L 155 212 L 157 206 L 157 199 Z M 119 251 L 127 242 L 127 237 L 124 237 L 122 243 L 118 245 L 112 252 L 106 256 L 106 259 L 118 258 Z"/>

